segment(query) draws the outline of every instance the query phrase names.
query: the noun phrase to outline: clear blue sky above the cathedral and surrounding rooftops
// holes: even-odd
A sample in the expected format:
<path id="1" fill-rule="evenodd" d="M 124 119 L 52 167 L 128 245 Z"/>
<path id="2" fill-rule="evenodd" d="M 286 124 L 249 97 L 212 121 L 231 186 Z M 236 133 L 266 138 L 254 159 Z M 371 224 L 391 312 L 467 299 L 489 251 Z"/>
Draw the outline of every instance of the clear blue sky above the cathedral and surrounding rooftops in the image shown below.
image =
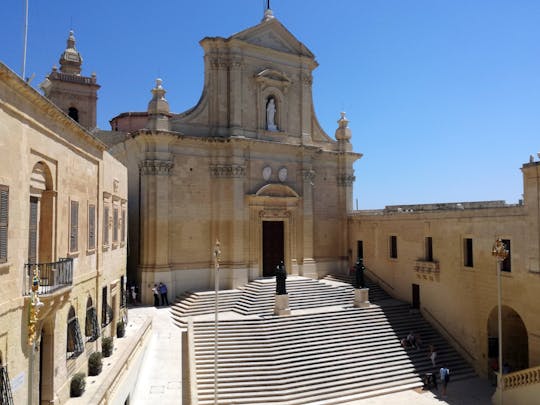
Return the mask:
<path id="1" fill-rule="evenodd" d="M 198 101 L 205 36 L 259 23 L 262 0 L 30 0 L 27 76 L 44 79 L 75 30 L 101 84 L 98 125 L 144 111 L 162 77 L 173 112 Z M 540 1 L 272 0 L 316 55 L 317 117 L 353 131 L 359 207 L 521 198 L 540 150 Z M 4 0 L 0 60 L 21 72 L 24 0 Z"/>

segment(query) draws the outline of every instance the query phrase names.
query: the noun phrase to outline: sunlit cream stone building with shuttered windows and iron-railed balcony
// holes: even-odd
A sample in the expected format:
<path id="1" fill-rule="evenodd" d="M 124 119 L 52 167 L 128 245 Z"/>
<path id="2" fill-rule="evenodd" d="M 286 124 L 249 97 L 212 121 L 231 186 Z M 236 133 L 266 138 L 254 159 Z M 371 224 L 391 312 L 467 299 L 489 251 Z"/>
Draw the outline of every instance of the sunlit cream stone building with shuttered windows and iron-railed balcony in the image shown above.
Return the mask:
<path id="1" fill-rule="evenodd" d="M 2 403 L 66 402 L 125 307 L 127 170 L 68 116 L 95 126 L 76 65 L 52 75 L 62 111 L 0 63 Z"/>

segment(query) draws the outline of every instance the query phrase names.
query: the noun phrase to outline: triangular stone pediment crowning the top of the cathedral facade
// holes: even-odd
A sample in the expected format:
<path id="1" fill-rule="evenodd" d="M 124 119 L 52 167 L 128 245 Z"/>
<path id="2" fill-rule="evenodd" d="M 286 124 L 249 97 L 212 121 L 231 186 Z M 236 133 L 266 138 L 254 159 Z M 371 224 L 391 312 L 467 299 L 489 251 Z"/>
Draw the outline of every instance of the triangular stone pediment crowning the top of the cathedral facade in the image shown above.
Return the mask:
<path id="1" fill-rule="evenodd" d="M 292 53 L 314 59 L 314 55 L 309 49 L 275 18 L 241 31 L 233 35 L 231 39 L 238 39 L 279 52 Z"/>

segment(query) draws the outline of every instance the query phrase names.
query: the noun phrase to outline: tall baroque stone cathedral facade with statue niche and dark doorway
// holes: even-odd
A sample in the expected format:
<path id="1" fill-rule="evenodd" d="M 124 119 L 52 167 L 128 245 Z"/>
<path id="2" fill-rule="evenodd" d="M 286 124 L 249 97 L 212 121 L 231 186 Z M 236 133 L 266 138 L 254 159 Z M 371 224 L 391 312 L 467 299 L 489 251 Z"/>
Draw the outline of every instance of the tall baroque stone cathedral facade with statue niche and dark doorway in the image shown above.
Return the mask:
<path id="1" fill-rule="evenodd" d="M 171 295 L 289 274 L 319 278 L 349 263 L 351 131 L 335 138 L 312 100 L 313 53 L 270 9 L 229 38 L 206 37 L 204 89 L 196 106 L 170 111 L 157 80 L 145 112 L 125 112 L 98 135 L 129 172 L 128 279 L 143 302 L 164 282 Z M 175 95 L 170 96 L 173 100 Z"/>

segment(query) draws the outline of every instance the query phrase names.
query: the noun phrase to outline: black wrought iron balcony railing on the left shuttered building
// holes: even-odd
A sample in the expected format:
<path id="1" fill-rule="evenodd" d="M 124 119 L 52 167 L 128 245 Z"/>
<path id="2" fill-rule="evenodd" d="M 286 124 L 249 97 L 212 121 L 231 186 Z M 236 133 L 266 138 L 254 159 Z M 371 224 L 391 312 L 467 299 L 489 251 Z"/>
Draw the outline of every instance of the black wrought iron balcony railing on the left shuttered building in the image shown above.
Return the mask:
<path id="1" fill-rule="evenodd" d="M 32 292 L 34 274 L 39 278 L 39 294 L 51 294 L 73 284 L 73 259 L 59 259 L 53 263 L 27 263 L 25 267 L 25 295 Z"/>

